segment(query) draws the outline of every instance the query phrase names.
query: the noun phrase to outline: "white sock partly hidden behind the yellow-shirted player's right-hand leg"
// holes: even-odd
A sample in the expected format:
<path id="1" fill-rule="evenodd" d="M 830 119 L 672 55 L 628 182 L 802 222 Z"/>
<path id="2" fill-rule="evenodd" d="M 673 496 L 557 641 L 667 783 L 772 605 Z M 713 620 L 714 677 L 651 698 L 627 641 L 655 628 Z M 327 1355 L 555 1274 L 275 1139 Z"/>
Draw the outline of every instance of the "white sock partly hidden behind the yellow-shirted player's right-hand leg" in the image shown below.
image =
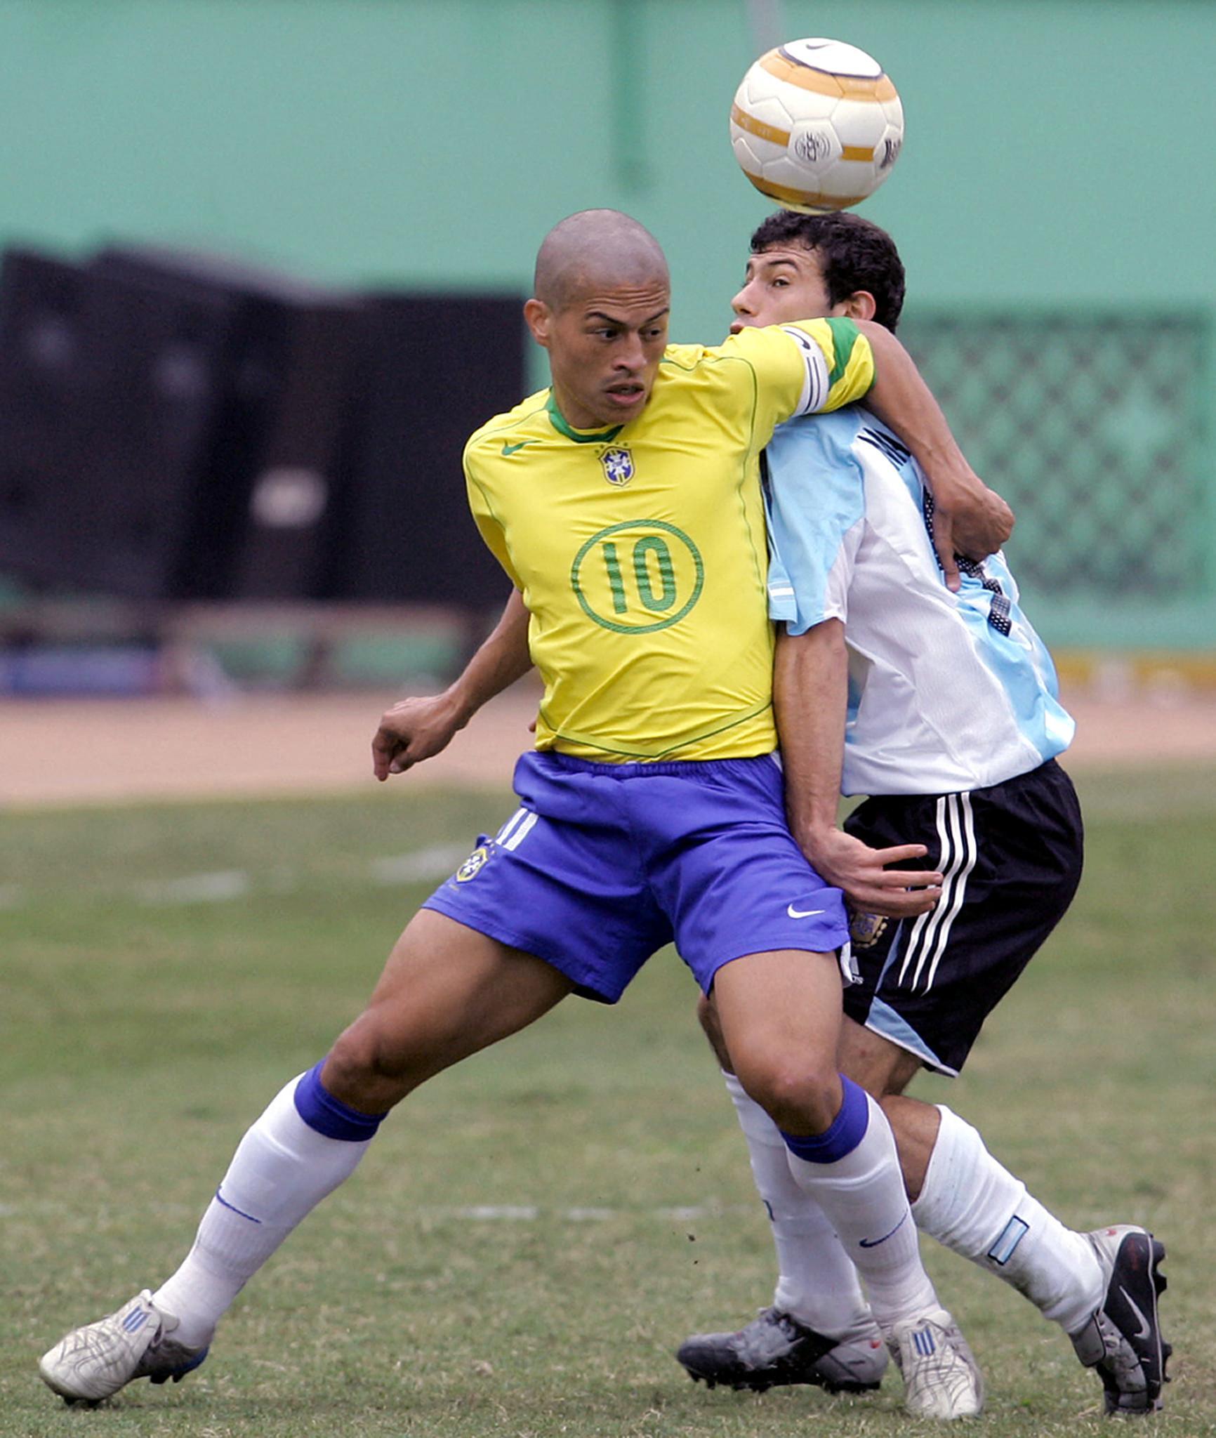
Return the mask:
<path id="1" fill-rule="evenodd" d="M 773 1306 L 831 1337 L 872 1333 L 874 1319 L 857 1268 L 824 1209 L 791 1173 L 780 1129 L 747 1097 L 734 1074 L 722 1077 L 747 1139 L 752 1176 L 772 1224 L 779 1270 Z"/>

